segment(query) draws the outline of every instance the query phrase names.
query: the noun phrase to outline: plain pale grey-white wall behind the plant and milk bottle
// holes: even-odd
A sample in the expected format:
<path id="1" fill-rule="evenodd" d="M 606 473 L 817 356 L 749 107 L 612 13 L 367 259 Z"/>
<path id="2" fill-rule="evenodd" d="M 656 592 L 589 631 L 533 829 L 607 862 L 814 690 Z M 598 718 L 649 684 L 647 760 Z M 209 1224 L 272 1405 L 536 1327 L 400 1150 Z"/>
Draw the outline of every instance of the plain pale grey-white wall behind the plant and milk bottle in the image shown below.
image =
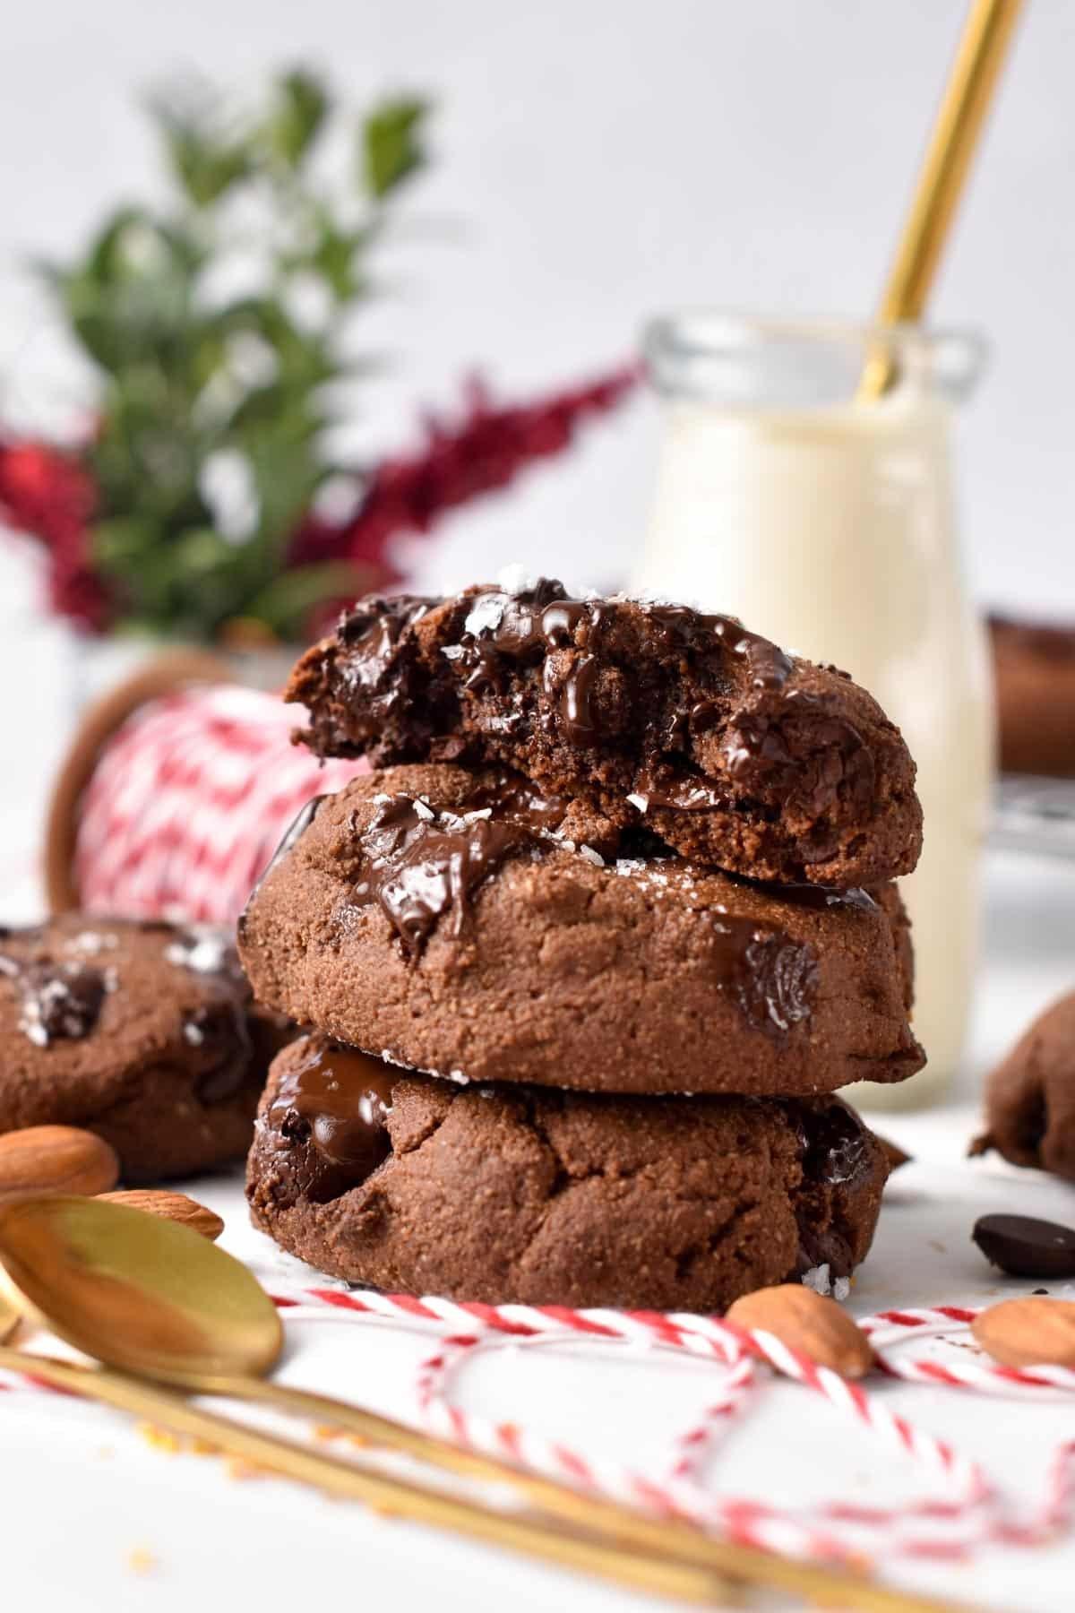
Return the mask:
<path id="1" fill-rule="evenodd" d="M 151 195 L 139 92 L 181 68 L 240 90 L 295 58 L 364 100 L 440 103 L 437 168 L 408 205 L 430 234 L 385 265 L 363 442 L 408 439 L 480 365 L 506 394 L 632 350 L 646 315 L 712 303 L 859 316 L 874 305 L 962 0 L 34 0 L 0 45 L 0 419 L 71 400 L 13 273 L 69 252 L 106 203 Z M 944 265 L 936 323 L 983 327 L 994 365 L 965 421 L 978 592 L 1075 615 L 1075 6 L 1031 0 Z M 511 558 L 579 581 L 625 571 L 656 419 L 596 427 L 572 465 L 453 519 L 424 568 Z M 10 594 L 10 563 L 0 558 Z M 582 574 L 582 576 L 580 576 Z"/>

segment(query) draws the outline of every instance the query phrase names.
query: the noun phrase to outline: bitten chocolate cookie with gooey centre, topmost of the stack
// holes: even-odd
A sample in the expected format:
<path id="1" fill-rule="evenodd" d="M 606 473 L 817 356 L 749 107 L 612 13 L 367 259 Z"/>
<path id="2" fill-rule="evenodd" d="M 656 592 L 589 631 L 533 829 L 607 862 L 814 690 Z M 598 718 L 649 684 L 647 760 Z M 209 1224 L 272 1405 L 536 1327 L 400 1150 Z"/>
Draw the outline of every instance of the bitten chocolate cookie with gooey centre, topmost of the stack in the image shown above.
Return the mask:
<path id="1" fill-rule="evenodd" d="M 553 581 L 369 597 L 285 698 L 321 756 L 506 763 L 754 879 L 870 884 L 922 845 L 914 761 L 877 702 L 683 605 L 571 600 Z"/>

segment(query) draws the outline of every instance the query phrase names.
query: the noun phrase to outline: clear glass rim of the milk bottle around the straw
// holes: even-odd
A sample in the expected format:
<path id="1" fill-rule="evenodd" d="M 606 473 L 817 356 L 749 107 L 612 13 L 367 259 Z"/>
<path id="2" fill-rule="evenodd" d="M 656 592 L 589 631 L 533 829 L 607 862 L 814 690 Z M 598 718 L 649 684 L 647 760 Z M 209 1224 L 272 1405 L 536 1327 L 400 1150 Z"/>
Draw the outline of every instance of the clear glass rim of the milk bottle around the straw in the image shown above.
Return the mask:
<path id="1" fill-rule="evenodd" d="M 824 363 L 849 374 L 867 358 L 890 360 L 898 374 L 951 402 L 965 398 L 986 360 L 985 337 L 970 327 L 919 323 L 878 324 L 830 316 L 770 316 L 714 308 L 682 310 L 651 319 L 643 336 L 646 373 L 661 394 L 757 402 L 762 377 L 774 390 L 799 369 Z M 851 389 L 853 395 L 853 389 Z"/>

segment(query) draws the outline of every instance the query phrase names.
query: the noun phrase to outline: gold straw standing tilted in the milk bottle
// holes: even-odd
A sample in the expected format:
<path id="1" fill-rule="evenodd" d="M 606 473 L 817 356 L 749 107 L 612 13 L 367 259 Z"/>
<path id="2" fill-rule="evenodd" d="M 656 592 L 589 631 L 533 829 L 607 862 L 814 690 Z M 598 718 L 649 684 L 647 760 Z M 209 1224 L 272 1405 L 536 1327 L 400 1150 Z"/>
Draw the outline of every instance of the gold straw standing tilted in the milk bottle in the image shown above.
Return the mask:
<path id="1" fill-rule="evenodd" d="M 917 319 L 925 308 L 970 160 L 1023 0 L 973 0 L 922 161 L 911 211 L 877 313 L 878 324 Z M 894 376 L 888 350 L 875 350 L 859 400 L 877 398 Z"/>

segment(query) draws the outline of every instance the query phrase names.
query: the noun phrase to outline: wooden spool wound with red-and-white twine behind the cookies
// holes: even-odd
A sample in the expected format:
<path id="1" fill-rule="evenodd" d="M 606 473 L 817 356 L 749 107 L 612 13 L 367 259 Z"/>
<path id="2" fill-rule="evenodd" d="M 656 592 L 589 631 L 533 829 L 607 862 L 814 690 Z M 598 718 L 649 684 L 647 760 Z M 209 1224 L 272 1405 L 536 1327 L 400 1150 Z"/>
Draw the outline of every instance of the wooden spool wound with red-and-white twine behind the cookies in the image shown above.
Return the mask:
<path id="1" fill-rule="evenodd" d="M 363 761 L 292 744 L 295 713 L 208 653 L 161 656 L 82 719 L 52 795 L 45 890 L 84 908 L 234 924 L 292 819 Z"/>

